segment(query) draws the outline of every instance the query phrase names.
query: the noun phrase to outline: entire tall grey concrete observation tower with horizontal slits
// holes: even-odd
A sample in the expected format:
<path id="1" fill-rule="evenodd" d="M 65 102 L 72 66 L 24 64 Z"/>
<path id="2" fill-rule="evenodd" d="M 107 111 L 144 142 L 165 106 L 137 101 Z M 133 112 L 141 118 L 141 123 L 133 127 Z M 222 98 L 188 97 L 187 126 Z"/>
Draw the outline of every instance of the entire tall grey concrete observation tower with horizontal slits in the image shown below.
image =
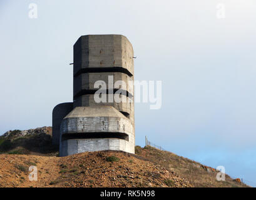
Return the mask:
<path id="1" fill-rule="evenodd" d="M 60 156 L 103 150 L 135 153 L 130 41 L 113 34 L 81 36 L 74 44 L 73 56 L 73 103 L 53 109 L 53 144 L 59 146 Z M 106 88 L 101 85 L 106 92 L 98 96 L 96 81 L 106 83 Z M 115 84 L 118 81 L 126 88 Z M 115 96 L 125 101 L 115 101 Z"/>

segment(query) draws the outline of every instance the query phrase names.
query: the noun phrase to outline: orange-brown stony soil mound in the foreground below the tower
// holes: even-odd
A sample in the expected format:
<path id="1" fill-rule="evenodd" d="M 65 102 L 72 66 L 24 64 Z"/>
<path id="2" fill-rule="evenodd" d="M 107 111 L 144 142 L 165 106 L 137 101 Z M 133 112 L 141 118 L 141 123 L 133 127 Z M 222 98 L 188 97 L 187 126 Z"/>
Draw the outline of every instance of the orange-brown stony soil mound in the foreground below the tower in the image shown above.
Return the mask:
<path id="1" fill-rule="evenodd" d="M 38 181 L 29 181 L 29 166 Z M 114 151 L 81 153 L 63 158 L 0 155 L 1 187 L 191 187 L 160 165 Z"/>

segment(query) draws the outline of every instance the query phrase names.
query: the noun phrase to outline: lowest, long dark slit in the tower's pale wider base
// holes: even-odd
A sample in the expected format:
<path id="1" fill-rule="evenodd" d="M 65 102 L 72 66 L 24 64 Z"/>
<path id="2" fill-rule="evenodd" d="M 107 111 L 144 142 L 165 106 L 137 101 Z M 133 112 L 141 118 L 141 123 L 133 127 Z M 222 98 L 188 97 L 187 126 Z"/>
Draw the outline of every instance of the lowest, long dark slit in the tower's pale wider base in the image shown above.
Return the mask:
<path id="1" fill-rule="evenodd" d="M 117 139 L 124 139 L 126 141 L 129 141 L 128 134 L 125 133 L 97 133 L 97 132 L 91 132 L 91 133 L 65 133 L 61 136 L 61 140 L 67 140 L 67 139 L 101 139 L 101 138 L 117 138 Z"/>

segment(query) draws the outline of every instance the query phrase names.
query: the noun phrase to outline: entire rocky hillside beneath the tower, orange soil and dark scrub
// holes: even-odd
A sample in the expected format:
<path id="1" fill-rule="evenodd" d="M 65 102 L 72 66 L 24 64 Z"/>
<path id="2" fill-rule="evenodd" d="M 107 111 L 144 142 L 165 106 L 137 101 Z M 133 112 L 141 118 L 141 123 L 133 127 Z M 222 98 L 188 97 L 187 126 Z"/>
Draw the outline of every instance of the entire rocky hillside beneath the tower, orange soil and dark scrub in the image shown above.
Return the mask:
<path id="1" fill-rule="evenodd" d="M 60 158 L 47 127 L 8 131 L 0 141 L 0 187 L 247 187 L 227 175 L 217 181 L 215 169 L 150 146 L 136 146 L 136 154 L 100 151 Z M 29 181 L 29 166 L 38 169 L 38 181 Z"/>

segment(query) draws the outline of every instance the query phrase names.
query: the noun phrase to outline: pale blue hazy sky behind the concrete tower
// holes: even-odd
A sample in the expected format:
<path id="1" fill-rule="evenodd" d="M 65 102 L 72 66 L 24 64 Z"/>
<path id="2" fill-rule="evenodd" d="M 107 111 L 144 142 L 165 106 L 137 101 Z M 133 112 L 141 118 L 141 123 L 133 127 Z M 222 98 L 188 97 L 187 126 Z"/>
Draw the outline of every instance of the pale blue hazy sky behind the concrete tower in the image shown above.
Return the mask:
<path id="1" fill-rule="evenodd" d="M 255 10 L 254 0 L 2 0 L 0 134 L 51 126 L 54 106 L 72 101 L 79 36 L 123 34 L 138 56 L 135 79 L 163 81 L 161 109 L 135 105 L 136 144 L 146 135 L 256 186 Z"/>

